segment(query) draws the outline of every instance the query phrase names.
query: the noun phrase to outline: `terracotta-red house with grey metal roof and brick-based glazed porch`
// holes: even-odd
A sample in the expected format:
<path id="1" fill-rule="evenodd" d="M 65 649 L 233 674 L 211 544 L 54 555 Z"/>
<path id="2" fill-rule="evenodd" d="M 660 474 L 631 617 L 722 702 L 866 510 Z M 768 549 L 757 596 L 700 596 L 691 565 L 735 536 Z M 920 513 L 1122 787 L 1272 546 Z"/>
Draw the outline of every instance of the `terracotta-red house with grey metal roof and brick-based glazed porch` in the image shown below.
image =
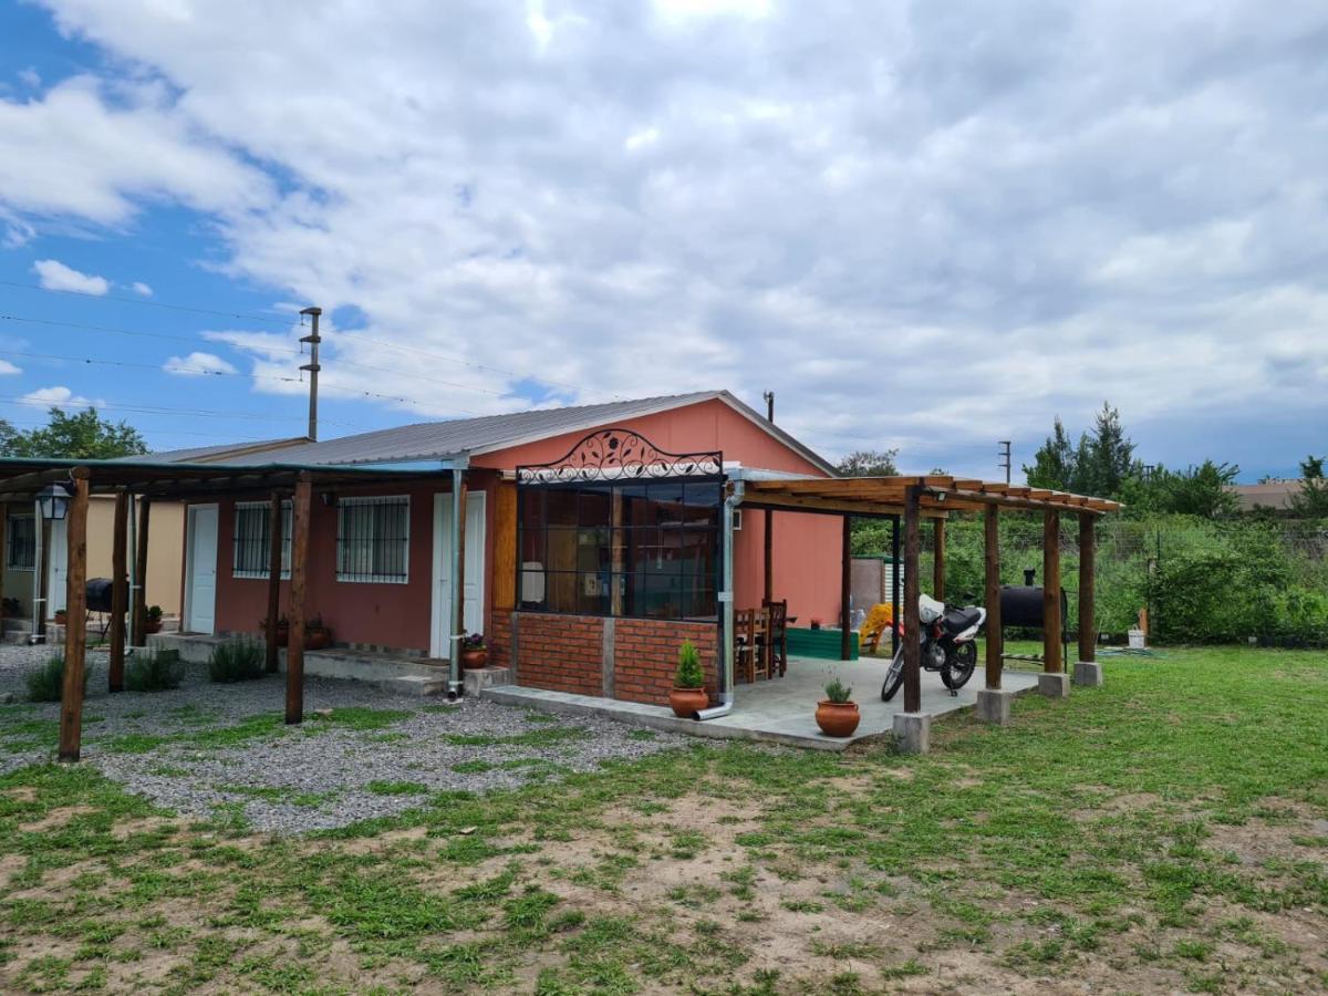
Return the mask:
<path id="1" fill-rule="evenodd" d="M 262 471 L 300 469 L 316 478 L 304 611 L 339 647 L 450 660 L 456 606 L 463 629 L 487 637 L 490 663 L 518 683 L 644 703 L 667 697 L 684 639 L 714 673 L 725 485 L 834 475 L 725 390 L 135 459 L 232 474 L 215 497 L 187 503 L 183 631 L 263 632 L 272 499 Z M 458 491 L 463 510 L 453 509 Z M 780 511 L 768 579 L 766 514 L 748 509 L 734 523 L 734 603 L 770 594 L 803 625 L 839 619 L 839 519 Z M 286 499 L 283 614 L 291 523 Z"/>

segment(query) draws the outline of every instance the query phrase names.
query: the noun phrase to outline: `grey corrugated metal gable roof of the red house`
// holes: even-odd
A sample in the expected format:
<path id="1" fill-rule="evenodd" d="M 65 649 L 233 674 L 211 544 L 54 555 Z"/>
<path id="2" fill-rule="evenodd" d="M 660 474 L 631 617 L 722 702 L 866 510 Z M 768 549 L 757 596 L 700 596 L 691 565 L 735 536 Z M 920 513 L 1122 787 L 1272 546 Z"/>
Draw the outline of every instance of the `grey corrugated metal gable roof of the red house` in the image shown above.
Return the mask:
<path id="1" fill-rule="evenodd" d="M 574 408 L 540 408 L 531 412 L 483 416 L 479 418 L 457 418 L 445 422 L 417 422 L 414 425 L 380 429 L 357 436 L 344 436 L 339 440 L 327 440 L 323 442 L 274 441 L 270 446 L 250 444 L 246 446 L 206 448 L 212 450 L 208 456 L 199 456 L 201 450 L 171 450 L 169 453 L 154 453 L 139 459 L 151 462 L 205 461 L 223 466 L 259 466 L 272 462 L 271 452 L 279 448 L 282 463 L 301 466 L 444 461 L 461 456 L 490 453 L 493 450 L 507 449 L 509 446 L 519 446 L 552 436 L 586 432 L 612 425 L 618 421 L 640 418 L 641 416 L 668 412 L 712 400 L 722 401 L 756 422 L 765 432 L 776 436 L 781 442 L 803 456 L 817 467 L 821 467 L 826 473 L 834 473 L 833 466 L 825 458 L 778 426 L 772 425 L 726 390 L 665 394 L 661 397 L 610 401 L 599 405 L 578 405 Z"/>

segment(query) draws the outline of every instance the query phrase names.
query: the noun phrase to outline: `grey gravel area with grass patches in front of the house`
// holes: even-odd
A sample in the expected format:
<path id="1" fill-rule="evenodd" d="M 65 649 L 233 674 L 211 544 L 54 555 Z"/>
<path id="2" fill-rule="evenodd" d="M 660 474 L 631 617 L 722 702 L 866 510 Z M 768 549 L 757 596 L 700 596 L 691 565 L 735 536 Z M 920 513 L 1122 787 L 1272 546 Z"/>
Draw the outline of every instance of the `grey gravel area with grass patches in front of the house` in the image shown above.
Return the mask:
<path id="1" fill-rule="evenodd" d="M 44 647 L 0 647 L 0 693 L 25 695 Z M 402 697 L 359 681 L 305 679 L 305 722 L 282 724 L 284 676 L 214 685 L 186 664 L 170 692 L 106 689 L 89 653 L 84 760 L 153 802 L 254 830 L 345 826 L 424 805 L 436 791 L 489 791 L 588 772 L 685 737 L 599 717 L 556 717 L 483 700 Z M 0 773 L 53 757 L 56 703 L 0 705 Z"/>

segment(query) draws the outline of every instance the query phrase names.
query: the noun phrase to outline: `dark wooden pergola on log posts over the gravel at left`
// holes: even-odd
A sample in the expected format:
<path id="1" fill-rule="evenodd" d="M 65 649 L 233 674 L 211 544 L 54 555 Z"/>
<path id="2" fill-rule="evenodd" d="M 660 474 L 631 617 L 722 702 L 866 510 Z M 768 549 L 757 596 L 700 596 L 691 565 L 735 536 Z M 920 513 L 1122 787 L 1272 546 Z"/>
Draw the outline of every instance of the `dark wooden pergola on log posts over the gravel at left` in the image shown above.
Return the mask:
<path id="1" fill-rule="evenodd" d="M 286 660 L 286 721 L 304 718 L 304 637 L 305 586 L 309 548 L 309 513 L 313 490 L 389 481 L 424 481 L 461 478 L 459 514 L 465 510 L 463 473 L 446 467 L 384 469 L 373 466 L 324 466 L 266 463 L 255 466 L 226 463 L 153 463 L 138 461 L 73 461 L 0 458 L 0 513 L 11 502 L 33 502 L 49 485 L 62 485 L 69 493 L 65 514 L 68 567 L 65 610 L 65 672 L 60 709 L 61 761 L 77 761 L 82 730 L 82 699 L 86 652 L 86 582 L 88 582 L 88 502 L 93 494 L 116 498 L 112 537 L 112 618 L 109 641 L 109 691 L 125 687 L 125 645 L 147 643 L 147 603 L 143 584 L 147 575 L 149 523 L 153 502 L 215 501 L 218 497 L 266 499 L 271 505 L 271 538 L 268 560 L 268 612 L 266 633 L 266 667 L 278 671 L 279 649 L 276 623 L 280 616 L 282 505 L 291 501 L 291 574 L 290 636 Z M 135 587 L 131 599 L 127 578 L 127 533 L 130 501 L 138 505 L 135 554 Z M 462 519 L 462 535 L 465 522 Z M 41 542 L 41 531 L 37 533 Z M 3 550 L 0 550 L 3 552 Z M 459 584 L 459 578 L 458 578 Z M 3 590 L 0 590 L 3 598 Z M 127 610 L 133 611 L 129 612 Z M 129 632 L 126 633 L 126 615 Z M 459 615 L 459 614 L 458 614 Z M 459 622 L 457 627 L 459 628 Z"/>

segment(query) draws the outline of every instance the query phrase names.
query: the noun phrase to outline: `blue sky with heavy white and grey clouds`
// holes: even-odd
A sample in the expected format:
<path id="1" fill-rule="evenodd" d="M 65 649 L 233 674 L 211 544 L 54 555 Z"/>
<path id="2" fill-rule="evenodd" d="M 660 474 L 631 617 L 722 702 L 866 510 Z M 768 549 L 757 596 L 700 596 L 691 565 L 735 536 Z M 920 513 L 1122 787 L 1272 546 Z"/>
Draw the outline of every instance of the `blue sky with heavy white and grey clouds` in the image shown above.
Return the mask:
<path id="1" fill-rule="evenodd" d="M 1328 5 L 0 0 L 0 417 L 728 388 L 831 459 L 1328 453 Z"/>

